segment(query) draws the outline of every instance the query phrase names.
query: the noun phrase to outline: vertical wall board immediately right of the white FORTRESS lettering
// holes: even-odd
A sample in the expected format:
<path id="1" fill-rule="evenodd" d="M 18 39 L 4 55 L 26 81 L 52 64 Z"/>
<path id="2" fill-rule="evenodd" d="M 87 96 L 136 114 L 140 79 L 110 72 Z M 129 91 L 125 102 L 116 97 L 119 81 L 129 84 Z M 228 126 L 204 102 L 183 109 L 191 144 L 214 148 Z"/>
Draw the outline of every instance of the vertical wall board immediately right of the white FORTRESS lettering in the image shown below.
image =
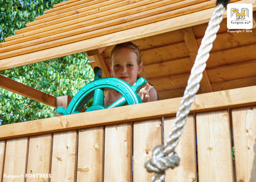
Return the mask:
<path id="1" fill-rule="evenodd" d="M 54 133 L 51 182 L 76 181 L 77 131 Z"/>

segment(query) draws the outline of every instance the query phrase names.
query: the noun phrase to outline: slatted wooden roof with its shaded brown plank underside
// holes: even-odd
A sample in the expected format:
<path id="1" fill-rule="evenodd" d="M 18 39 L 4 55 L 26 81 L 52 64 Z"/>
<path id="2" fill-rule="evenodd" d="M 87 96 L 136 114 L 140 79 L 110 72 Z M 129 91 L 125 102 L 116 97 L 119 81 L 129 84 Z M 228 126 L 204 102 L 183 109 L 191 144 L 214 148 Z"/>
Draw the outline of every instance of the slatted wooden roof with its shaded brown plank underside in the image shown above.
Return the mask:
<path id="1" fill-rule="evenodd" d="M 255 0 L 231 2 L 256 10 Z M 159 96 L 180 97 L 214 7 L 215 0 L 65 1 L 0 44 L 0 70 L 86 51 L 92 67 L 108 77 L 111 48 L 132 41 L 142 53 L 143 76 Z M 256 85 L 255 19 L 254 12 L 254 28 L 244 33 L 227 32 L 222 21 L 199 93 Z M 2 88 L 21 93 L 1 79 Z"/>

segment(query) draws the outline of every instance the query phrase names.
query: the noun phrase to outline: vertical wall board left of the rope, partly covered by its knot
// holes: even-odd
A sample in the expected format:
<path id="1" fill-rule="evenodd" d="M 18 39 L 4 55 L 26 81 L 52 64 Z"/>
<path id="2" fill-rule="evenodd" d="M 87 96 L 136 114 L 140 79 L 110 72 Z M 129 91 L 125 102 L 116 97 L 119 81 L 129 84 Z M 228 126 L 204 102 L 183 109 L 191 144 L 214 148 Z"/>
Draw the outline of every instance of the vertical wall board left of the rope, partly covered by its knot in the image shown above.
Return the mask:
<path id="1" fill-rule="evenodd" d="M 145 163 L 152 159 L 152 150 L 162 143 L 161 119 L 134 123 L 134 182 L 151 181 L 154 173 L 148 173 Z"/>

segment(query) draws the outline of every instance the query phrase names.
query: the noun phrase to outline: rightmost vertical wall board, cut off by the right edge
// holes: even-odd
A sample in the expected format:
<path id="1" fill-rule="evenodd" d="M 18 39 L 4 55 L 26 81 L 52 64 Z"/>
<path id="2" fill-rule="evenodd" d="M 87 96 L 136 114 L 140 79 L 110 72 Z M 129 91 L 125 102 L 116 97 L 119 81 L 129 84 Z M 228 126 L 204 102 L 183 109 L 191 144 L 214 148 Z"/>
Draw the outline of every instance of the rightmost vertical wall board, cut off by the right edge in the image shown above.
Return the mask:
<path id="1" fill-rule="evenodd" d="M 236 181 L 256 181 L 256 106 L 232 109 Z"/>

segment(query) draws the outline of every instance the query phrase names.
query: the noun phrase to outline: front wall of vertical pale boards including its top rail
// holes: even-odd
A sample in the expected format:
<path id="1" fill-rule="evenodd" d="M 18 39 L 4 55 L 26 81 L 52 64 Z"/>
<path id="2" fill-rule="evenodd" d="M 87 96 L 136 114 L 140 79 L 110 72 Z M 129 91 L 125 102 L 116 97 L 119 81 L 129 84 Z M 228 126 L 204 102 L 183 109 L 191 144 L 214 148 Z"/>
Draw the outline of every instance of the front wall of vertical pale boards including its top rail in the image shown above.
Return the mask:
<path id="1" fill-rule="evenodd" d="M 256 181 L 255 93 L 197 95 L 176 148 L 180 165 L 165 181 Z M 0 179 L 150 181 L 144 164 L 166 140 L 180 100 L 0 126 Z"/>

